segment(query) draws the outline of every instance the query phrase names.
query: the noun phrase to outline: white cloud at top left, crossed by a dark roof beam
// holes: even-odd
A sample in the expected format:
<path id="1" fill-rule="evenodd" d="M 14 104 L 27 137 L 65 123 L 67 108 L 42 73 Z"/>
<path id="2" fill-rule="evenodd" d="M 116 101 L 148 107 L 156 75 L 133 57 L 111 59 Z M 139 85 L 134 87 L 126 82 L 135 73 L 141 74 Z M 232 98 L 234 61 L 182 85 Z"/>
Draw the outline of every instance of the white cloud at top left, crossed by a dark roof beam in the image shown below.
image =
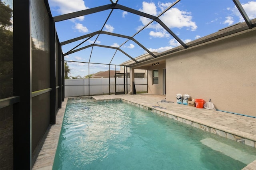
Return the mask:
<path id="1" fill-rule="evenodd" d="M 48 2 L 50 6 L 54 7 L 54 10 L 61 15 L 88 9 L 83 0 L 49 0 Z M 82 21 L 84 20 L 84 16 L 80 16 L 76 19 Z"/>

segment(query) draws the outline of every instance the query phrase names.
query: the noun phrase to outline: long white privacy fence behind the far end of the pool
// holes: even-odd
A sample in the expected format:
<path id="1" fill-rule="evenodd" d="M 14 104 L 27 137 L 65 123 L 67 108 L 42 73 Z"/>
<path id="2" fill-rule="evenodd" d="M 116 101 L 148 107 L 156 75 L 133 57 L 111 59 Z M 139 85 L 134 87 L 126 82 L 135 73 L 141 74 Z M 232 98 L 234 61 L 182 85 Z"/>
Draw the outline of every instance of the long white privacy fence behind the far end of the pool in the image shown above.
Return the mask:
<path id="1" fill-rule="evenodd" d="M 130 78 L 128 78 L 130 83 Z M 147 92 L 147 79 L 134 79 L 136 92 Z M 116 91 L 125 91 L 126 79 L 124 87 L 124 79 L 116 79 Z M 122 84 L 122 85 L 120 85 Z M 125 89 L 124 89 L 125 88 Z M 104 95 L 115 93 L 115 78 L 92 78 L 90 79 L 90 95 Z M 130 85 L 128 85 L 130 91 Z M 65 97 L 88 96 L 89 95 L 89 79 L 65 79 Z"/>

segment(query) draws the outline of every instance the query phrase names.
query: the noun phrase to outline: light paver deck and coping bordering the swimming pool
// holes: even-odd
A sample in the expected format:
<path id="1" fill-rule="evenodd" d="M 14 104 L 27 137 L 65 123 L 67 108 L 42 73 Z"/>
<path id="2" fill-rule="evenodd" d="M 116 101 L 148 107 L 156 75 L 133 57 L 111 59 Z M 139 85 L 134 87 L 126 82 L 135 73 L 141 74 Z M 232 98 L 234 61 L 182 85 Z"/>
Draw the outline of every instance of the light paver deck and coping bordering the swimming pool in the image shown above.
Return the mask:
<path id="1" fill-rule="evenodd" d="M 80 99 L 83 97 L 74 98 Z M 157 102 L 165 99 L 164 95 L 100 95 L 92 96 L 92 98 L 100 101 L 122 99 L 124 102 L 144 109 L 152 109 L 153 106 L 159 104 L 166 109 L 155 108 L 153 110 L 155 113 L 256 148 L 256 118 L 198 109 L 177 104 L 176 101 L 174 103 L 157 104 Z M 33 170 L 52 170 L 67 100 L 68 98 L 65 98 L 62 108 L 58 110 L 56 124 L 51 126 Z M 243 170 L 254 169 L 256 169 L 256 160 Z"/>

